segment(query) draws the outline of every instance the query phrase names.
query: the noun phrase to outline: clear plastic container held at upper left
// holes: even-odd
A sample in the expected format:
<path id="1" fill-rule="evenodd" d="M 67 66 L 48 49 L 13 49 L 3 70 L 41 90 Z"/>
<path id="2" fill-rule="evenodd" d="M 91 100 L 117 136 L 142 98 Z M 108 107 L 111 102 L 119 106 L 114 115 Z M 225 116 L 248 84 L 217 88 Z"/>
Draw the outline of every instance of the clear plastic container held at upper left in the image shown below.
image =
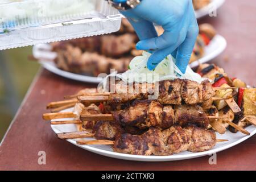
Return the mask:
<path id="1" fill-rule="evenodd" d="M 1 0 L 0 50 L 118 31 L 105 0 Z"/>

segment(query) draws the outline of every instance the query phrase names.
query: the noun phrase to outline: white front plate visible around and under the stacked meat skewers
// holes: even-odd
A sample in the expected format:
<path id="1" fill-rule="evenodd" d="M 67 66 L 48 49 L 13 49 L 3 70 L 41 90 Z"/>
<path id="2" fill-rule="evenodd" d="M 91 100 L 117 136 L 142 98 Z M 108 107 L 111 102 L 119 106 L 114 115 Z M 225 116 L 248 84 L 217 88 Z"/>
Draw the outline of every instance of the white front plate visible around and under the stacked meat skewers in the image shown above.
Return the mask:
<path id="1" fill-rule="evenodd" d="M 73 109 L 66 109 L 63 111 L 72 111 Z M 52 120 L 57 121 L 58 119 Z M 63 120 L 63 119 L 60 119 Z M 68 120 L 68 119 L 67 119 Z M 71 131 L 77 131 L 76 125 L 51 125 L 52 130 L 57 133 L 63 133 L 63 132 L 71 132 Z M 233 147 L 237 145 L 238 143 L 243 142 L 244 140 L 250 138 L 256 133 L 256 127 L 255 126 L 249 126 L 246 127 L 246 130 L 249 131 L 251 134 L 249 136 L 244 135 L 242 133 L 231 133 L 230 131 L 226 131 L 225 134 L 220 135 L 217 134 L 218 139 L 228 139 L 228 142 L 218 142 L 216 146 L 212 148 L 212 150 L 205 151 L 205 152 L 180 152 L 179 154 L 174 155 L 168 155 L 168 156 L 142 156 L 142 155 L 130 155 L 130 154 L 122 154 L 118 152 L 113 152 L 111 146 L 105 146 L 105 145 L 78 145 L 76 144 L 76 139 L 68 139 L 67 141 L 75 144 L 78 147 L 81 147 L 85 150 L 88 150 L 90 152 L 94 152 L 96 154 L 108 156 L 110 158 L 117 158 L 117 159 L 124 159 L 124 160 L 136 160 L 136 161 L 146 161 L 146 162 L 160 162 L 160 161 L 172 161 L 172 160 L 184 160 L 184 159 L 192 159 L 192 158 L 199 158 L 201 156 L 214 154 L 216 152 L 220 152 L 222 150 L 226 150 L 227 148 Z M 84 138 L 86 140 L 92 140 L 93 138 Z"/>

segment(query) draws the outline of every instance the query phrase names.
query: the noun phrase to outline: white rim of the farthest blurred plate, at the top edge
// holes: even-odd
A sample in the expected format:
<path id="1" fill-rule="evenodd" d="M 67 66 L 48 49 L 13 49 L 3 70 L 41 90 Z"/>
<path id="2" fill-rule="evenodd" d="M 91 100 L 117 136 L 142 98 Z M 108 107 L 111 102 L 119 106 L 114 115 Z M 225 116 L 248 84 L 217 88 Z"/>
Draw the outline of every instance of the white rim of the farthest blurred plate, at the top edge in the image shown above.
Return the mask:
<path id="1" fill-rule="evenodd" d="M 196 10 L 196 18 L 202 18 L 203 16 L 209 15 L 213 10 L 217 10 L 224 4 L 225 0 L 212 0 L 208 6 L 203 7 L 202 9 Z"/>

